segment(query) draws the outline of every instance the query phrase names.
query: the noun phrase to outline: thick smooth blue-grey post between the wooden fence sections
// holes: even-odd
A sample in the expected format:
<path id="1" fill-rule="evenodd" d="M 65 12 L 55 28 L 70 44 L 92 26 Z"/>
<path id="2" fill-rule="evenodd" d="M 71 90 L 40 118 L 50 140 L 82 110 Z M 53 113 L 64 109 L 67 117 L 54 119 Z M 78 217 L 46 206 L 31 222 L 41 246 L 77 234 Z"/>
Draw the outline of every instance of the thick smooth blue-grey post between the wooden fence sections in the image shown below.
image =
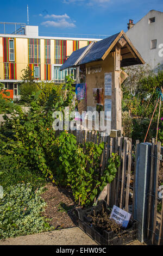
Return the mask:
<path id="1" fill-rule="evenodd" d="M 151 144 L 140 143 L 136 148 L 134 219 L 139 222 L 138 239 L 147 239 L 148 191 L 151 173 Z"/>

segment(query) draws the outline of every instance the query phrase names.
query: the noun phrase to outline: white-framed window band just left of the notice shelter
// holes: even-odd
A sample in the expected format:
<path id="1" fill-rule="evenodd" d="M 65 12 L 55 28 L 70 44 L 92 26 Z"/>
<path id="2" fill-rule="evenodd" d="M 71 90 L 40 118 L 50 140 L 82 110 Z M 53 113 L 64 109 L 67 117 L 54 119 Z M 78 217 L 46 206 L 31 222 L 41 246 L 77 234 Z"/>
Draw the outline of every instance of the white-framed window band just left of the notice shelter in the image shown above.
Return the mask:
<path id="1" fill-rule="evenodd" d="M 52 70 L 52 80 L 54 83 L 64 83 L 65 77 L 68 75 L 72 75 L 72 79 L 76 80 L 76 68 L 70 68 L 60 71 L 61 65 L 53 65 Z"/>

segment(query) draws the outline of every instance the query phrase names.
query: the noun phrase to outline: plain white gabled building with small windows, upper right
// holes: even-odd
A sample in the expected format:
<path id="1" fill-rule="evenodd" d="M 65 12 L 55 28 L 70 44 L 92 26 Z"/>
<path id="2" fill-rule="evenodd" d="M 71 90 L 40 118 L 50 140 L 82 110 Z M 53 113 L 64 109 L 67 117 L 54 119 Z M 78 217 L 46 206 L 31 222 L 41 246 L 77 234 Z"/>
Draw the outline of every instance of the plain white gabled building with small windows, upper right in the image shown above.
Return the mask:
<path id="1" fill-rule="evenodd" d="M 153 69 L 163 65 L 163 13 L 151 10 L 135 25 L 128 23 L 127 36 Z"/>

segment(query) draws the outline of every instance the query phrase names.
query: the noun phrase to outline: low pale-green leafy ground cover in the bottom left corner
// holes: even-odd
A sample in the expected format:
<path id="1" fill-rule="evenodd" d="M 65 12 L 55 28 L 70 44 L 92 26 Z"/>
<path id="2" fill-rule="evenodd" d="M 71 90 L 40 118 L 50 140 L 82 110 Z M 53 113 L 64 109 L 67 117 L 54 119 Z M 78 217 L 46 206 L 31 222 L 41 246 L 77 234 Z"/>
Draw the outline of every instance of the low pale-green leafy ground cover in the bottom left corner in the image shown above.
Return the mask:
<path id="1" fill-rule="evenodd" d="M 41 216 L 46 203 L 30 184 L 18 184 L 4 189 L 0 199 L 0 239 L 53 230 L 48 219 Z"/>

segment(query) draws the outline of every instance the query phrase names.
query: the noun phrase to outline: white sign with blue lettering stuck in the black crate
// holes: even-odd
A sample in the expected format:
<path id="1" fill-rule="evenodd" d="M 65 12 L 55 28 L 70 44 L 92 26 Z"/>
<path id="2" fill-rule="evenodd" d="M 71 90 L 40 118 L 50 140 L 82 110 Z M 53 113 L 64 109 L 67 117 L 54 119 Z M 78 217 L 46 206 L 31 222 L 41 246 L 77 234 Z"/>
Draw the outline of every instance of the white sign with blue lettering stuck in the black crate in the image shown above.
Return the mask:
<path id="1" fill-rule="evenodd" d="M 117 223 L 122 224 L 122 227 L 127 228 L 131 214 L 129 212 L 118 208 L 116 205 L 113 206 L 110 218 L 115 220 Z"/>

